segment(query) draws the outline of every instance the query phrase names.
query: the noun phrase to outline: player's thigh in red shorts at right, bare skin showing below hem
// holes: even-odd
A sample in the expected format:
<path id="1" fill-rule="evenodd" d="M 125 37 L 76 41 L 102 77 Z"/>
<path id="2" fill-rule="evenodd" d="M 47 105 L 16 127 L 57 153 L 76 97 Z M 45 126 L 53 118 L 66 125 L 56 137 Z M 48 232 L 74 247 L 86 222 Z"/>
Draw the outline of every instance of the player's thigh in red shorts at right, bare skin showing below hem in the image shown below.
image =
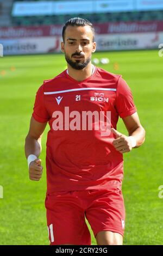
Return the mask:
<path id="1" fill-rule="evenodd" d="M 86 218 L 97 242 L 122 243 L 125 221 L 122 191 L 90 190 L 88 196 L 92 203 L 86 210 Z"/>

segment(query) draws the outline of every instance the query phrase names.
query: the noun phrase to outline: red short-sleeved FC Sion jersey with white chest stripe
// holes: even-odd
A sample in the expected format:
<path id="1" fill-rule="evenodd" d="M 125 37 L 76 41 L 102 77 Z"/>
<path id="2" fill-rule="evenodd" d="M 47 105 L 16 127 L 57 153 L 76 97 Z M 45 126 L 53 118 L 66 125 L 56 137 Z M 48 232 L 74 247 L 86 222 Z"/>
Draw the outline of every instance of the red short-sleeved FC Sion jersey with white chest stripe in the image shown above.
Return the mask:
<path id="1" fill-rule="evenodd" d="M 115 135 L 101 136 L 95 130 L 95 119 L 94 129 L 83 125 L 82 113 L 88 111 L 110 112 L 110 126 L 114 129 L 119 116 L 136 112 L 131 90 L 121 75 L 96 67 L 93 75 L 79 82 L 65 70 L 44 81 L 37 91 L 33 117 L 40 123 L 48 121 L 50 126 L 46 144 L 47 193 L 121 188 L 123 155 L 112 145 Z M 81 114 L 78 120 L 77 113 Z"/>

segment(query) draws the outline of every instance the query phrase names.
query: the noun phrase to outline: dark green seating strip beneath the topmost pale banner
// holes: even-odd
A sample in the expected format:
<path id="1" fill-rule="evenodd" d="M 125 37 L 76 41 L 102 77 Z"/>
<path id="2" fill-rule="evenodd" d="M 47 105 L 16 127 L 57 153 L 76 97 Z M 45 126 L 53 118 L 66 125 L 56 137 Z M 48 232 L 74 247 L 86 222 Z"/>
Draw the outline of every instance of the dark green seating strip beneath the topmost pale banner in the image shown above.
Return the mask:
<path id="1" fill-rule="evenodd" d="M 21 0 L 24 1 L 24 0 Z M 39 0 L 38 0 L 39 1 Z M 0 0 L 0 26 L 37 26 L 64 24 L 71 17 L 83 17 L 92 23 L 120 22 L 120 21 L 161 21 L 163 10 L 159 11 L 133 11 L 118 13 L 71 14 L 53 16 L 11 16 L 13 0 Z"/>

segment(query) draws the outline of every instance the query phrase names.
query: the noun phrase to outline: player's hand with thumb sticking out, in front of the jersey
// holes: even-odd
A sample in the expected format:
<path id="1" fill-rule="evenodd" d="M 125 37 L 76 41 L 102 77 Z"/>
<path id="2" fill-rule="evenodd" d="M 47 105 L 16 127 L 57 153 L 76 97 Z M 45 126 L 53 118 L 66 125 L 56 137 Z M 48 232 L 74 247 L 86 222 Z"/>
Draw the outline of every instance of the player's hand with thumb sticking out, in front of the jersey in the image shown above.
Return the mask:
<path id="1" fill-rule="evenodd" d="M 122 154 L 130 152 L 132 149 L 131 139 L 128 136 L 123 135 L 121 132 L 118 132 L 114 128 L 111 128 L 111 132 L 116 135 L 116 139 L 114 139 L 112 142 L 115 149 Z"/>

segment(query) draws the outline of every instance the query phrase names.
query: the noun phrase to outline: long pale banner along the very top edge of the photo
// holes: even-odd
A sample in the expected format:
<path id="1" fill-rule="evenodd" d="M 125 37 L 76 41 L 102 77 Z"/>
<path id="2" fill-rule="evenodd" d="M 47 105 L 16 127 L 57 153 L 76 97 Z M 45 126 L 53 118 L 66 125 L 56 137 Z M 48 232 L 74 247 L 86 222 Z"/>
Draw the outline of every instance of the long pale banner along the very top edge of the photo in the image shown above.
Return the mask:
<path id="1" fill-rule="evenodd" d="M 71 0 L 15 2 L 12 16 L 41 16 L 162 10 L 163 0 Z"/>

